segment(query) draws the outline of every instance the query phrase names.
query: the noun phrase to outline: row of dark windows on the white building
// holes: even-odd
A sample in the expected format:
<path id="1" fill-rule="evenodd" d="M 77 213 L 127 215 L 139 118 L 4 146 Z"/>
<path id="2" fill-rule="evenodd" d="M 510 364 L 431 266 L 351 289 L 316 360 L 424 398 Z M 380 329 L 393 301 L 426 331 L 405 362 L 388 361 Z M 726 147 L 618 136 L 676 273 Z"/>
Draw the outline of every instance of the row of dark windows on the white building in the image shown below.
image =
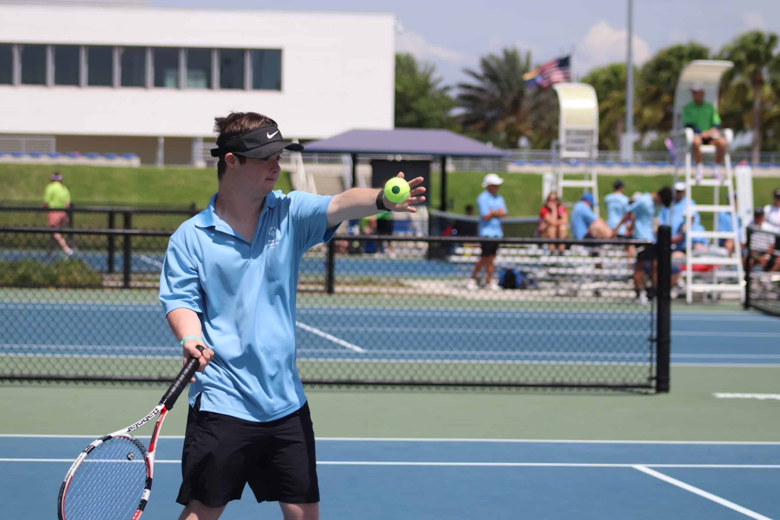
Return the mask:
<path id="1" fill-rule="evenodd" d="M 0 44 L 0 84 L 282 90 L 282 51 Z"/>

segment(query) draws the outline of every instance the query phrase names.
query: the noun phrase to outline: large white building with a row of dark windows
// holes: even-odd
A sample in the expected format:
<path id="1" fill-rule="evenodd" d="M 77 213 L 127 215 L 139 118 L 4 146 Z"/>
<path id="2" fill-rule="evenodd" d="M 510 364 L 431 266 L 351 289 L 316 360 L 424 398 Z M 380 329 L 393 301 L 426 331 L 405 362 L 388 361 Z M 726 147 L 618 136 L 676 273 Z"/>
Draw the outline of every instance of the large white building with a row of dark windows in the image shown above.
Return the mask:
<path id="1" fill-rule="evenodd" d="M 392 14 L 83 3 L 0 3 L 0 138 L 191 164 L 230 111 L 285 138 L 393 127 Z"/>

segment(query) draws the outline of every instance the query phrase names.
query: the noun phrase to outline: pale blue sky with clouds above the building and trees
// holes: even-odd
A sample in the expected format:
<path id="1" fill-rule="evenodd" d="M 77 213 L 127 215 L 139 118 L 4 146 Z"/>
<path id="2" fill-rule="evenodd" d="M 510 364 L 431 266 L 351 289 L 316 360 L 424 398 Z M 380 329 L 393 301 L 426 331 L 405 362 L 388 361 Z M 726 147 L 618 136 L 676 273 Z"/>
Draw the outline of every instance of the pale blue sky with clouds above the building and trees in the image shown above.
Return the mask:
<path id="1" fill-rule="evenodd" d="M 516 46 L 544 62 L 574 48 L 574 73 L 625 61 L 627 0 L 298 0 L 282 9 L 392 12 L 403 28 L 396 48 L 436 65 L 445 84 L 465 80 L 480 56 Z M 250 0 L 151 0 L 158 7 L 260 9 Z M 778 0 L 634 0 L 634 62 L 668 45 L 699 41 L 718 51 L 749 29 L 780 33 Z"/>

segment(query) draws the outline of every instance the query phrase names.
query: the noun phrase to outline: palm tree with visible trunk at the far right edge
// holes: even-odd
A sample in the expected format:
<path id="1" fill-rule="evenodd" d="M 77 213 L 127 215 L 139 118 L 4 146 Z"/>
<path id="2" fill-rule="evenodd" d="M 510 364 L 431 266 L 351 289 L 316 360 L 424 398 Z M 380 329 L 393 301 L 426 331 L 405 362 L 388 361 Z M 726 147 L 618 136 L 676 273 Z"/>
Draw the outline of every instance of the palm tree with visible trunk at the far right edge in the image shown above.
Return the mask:
<path id="1" fill-rule="evenodd" d="M 731 87 L 739 80 L 750 84 L 753 90 L 753 164 L 758 165 L 761 151 L 761 90 L 764 74 L 770 65 L 775 66 L 775 47 L 778 35 L 751 30 L 740 34 L 720 52 L 720 58 L 734 62 L 734 68 L 725 75 L 725 85 Z"/>

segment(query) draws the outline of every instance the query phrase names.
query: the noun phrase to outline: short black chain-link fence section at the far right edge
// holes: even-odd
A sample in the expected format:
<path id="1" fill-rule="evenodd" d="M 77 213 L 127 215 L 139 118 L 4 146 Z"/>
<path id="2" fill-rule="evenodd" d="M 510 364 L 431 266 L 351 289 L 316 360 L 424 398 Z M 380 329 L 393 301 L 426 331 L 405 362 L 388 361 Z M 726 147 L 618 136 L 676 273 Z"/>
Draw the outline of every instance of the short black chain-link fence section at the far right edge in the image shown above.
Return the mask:
<path id="1" fill-rule="evenodd" d="M 780 233 L 748 226 L 745 308 L 780 317 Z"/>

